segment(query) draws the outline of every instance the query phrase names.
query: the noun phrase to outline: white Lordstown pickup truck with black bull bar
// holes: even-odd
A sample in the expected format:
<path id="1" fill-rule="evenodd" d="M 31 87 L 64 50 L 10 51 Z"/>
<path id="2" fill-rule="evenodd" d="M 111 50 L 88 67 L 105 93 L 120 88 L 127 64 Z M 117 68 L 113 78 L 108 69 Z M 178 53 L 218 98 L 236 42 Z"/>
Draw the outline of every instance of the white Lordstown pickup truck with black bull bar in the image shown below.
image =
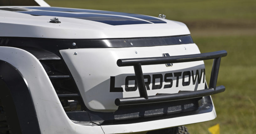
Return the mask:
<path id="1" fill-rule="evenodd" d="M 200 53 L 184 23 L 35 1 L 0 7 L 1 134 L 176 134 L 216 117 L 227 52 Z"/>

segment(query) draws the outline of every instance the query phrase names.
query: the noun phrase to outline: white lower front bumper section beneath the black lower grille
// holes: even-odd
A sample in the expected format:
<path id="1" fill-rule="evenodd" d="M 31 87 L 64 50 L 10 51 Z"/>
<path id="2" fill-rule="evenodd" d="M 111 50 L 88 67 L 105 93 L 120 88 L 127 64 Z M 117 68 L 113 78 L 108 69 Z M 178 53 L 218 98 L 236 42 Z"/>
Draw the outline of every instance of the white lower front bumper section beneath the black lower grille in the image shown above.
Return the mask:
<path id="1" fill-rule="evenodd" d="M 199 104 L 200 106 L 198 109 L 190 112 L 181 110 L 183 112 L 176 112 L 176 114 L 170 113 L 169 116 L 161 116 L 158 119 L 155 118 L 154 120 L 148 120 L 147 122 L 123 122 L 122 124 L 109 124 L 102 125 L 101 127 L 105 134 L 130 133 L 204 122 L 216 118 L 215 108 L 210 96 L 203 97 L 199 100 L 199 103 L 201 104 Z M 184 108 L 186 108 L 186 106 Z M 164 110 L 165 109 L 163 109 L 163 111 Z M 153 119 L 153 117 L 151 117 L 151 119 Z"/>

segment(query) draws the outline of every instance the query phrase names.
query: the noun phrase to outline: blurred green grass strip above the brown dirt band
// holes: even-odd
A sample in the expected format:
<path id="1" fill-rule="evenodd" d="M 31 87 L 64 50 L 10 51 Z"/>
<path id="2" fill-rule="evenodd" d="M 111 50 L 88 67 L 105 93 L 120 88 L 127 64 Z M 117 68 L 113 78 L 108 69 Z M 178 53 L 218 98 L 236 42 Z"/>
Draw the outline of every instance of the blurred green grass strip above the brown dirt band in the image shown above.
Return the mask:
<path id="1" fill-rule="evenodd" d="M 168 19 L 253 19 L 255 0 L 46 0 L 58 7 L 110 10 L 157 16 L 165 13 Z"/>

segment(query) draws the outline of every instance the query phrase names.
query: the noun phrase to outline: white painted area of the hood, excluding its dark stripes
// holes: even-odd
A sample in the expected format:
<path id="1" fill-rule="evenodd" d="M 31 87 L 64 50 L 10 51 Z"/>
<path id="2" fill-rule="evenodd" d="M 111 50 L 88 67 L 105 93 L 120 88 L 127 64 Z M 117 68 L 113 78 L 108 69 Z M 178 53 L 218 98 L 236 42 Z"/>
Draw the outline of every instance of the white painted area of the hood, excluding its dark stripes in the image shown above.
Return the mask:
<path id="1" fill-rule="evenodd" d="M 78 13 L 74 12 L 74 14 Z M 122 15 L 111 16 L 128 17 Z M 50 19 L 53 17 L 56 16 L 33 16 L 19 12 L 0 10 L 0 30 L 5 31 L 0 32 L 0 37 L 97 39 L 160 37 L 190 34 L 184 23 L 161 18 L 158 19 L 164 20 L 167 23 L 113 26 L 101 22 L 69 17 L 58 17 L 61 23 L 49 23 Z"/>

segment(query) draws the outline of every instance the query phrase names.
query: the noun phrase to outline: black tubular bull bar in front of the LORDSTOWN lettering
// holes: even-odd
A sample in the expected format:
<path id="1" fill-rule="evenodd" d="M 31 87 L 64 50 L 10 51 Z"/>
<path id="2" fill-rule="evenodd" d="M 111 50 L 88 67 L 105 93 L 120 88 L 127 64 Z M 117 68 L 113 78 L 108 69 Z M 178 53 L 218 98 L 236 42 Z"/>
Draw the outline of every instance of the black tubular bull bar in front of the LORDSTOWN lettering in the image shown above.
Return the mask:
<path id="1" fill-rule="evenodd" d="M 221 57 L 225 57 L 225 56 L 227 56 L 227 51 L 222 50 L 222 51 L 216 51 L 216 52 L 206 52 L 206 53 L 200 53 L 200 54 L 169 56 L 169 57 L 118 59 L 117 65 L 119 67 L 133 66 L 140 97 L 117 98 L 115 100 L 115 104 L 117 106 L 123 106 L 123 105 L 156 103 L 156 102 L 169 102 L 169 101 L 204 97 L 204 96 L 209 96 L 212 94 L 224 92 L 225 87 L 224 86 L 216 87 L 216 84 L 217 84 L 217 77 L 219 73 Z M 209 88 L 203 89 L 203 90 L 197 90 L 197 91 L 148 96 L 144 77 L 143 77 L 143 72 L 141 68 L 142 65 L 194 62 L 194 61 L 202 61 L 202 60 L 209 60 L 209 59 L 213 59 Z"/>

